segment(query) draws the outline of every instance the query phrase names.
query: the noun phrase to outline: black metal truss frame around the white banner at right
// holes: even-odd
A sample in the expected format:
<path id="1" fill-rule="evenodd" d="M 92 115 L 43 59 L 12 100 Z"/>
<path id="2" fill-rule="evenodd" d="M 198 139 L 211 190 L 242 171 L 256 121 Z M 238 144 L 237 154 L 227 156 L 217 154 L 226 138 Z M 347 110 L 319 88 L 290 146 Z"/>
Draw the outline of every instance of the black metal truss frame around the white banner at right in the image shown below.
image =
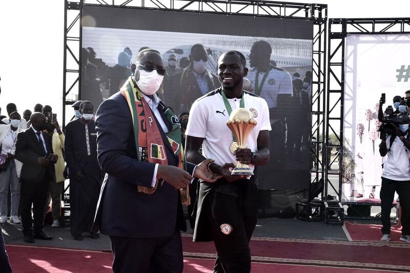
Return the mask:
<path id="1" fill-rule="evenodd" d="M 342 166 L 343 160 L 343 113 L 344 113 L 344 72 L 345 72 L 345 38 L 349 34 L 410 34 L 410 18 L 368 18 L 368 19 L 329 19 L 329 50 L 327 55 L 327 104 L 326 104 L 326 138 L 323 156 L 325 168 L 324 200 L 342 201 Z M 330 142 L 334 134 L 337 143 Z M 335 158 L 328 158 L 328 149 L 335 149 Z M 330 167 L 334 168 L 331 170 Z M 338 184 L 332 183 L 330 176 L 337 178 Z M 330 190 L 336 196 L 328 198 Z M 343 202 L 355 204 L 356 202 Z M 370 204 L 369 204 L 370 205 Z"/>

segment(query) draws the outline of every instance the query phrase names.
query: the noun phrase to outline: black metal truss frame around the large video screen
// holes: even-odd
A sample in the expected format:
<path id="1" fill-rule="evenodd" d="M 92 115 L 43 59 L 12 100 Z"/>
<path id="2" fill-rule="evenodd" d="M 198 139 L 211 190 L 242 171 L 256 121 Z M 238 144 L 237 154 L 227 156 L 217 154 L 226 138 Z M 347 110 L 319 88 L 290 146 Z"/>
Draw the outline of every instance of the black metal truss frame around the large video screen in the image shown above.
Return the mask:
<path id="1" fill-rule="evenodd" d="M 295 18 L 313 21 L 312 63 L 312 182 L 324 177 L 321 148 L 325 132 L 325 75 L 327 5 L 284 3 L 266 0 L 65 0 L 64 69 L 63 69 L 63 127 L 66 107 L 81 98 L 81 19 L 83 5 L 104 5 L 117 8 L 143 8 L 180 12 L 249 15 L 274 18 Z M 67 190 L 67 189 L 66 189 Z M 323 198 L 323 193 L 322 193 Z"/>

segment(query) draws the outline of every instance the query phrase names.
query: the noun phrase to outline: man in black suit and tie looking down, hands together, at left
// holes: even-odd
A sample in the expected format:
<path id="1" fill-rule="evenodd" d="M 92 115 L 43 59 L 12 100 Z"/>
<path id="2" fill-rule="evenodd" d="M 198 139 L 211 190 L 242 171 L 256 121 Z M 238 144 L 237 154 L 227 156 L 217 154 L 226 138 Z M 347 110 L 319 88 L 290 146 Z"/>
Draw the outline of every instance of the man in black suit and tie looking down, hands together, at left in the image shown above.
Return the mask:
<path id="1" fill-rule="evenodd" d="M 51 137 L 43 130 L 46 117 L 35 112 L 30 117 L 31 127 L 17 134 L 14 158 L 23 162 L 20 174 L 20 206 L 24 240 L 33 243 L 34 238 L 51 240 L 43 232 L 43 210 L 46 205 L 48 185 L 55 179 L 53 163 L 57 155 L 53 154 Z M 34 225 L 31 218 L 33 204 Z M 33 232 L 34 229 L 34 232 Z M 34 238 L 33 238 L 34 237 Z"/>

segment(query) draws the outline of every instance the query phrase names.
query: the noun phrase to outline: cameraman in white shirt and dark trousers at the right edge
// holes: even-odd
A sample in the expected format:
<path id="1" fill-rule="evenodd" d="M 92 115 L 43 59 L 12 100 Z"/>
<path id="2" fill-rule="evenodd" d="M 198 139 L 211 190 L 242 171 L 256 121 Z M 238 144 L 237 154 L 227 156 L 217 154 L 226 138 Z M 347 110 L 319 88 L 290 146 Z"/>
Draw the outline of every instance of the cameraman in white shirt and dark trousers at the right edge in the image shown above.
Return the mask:
<path id="1" fill-rule="evenodd" d="M 400 198 L 402 236 L 401 241 L 410 242 L 410 134 L 408 133 L 409 119 L 407 115 L 393 115 L 386 109 L 383 117 L 382 105 L 385 98 L 380 100 L 380 155 L 386 156 L 383 165 L 381 199 L 382 234 L 380 241 L 390 241 L 390 212 L 395 192 Z M 393 109 L 390 109 L 392 112 Z"/>

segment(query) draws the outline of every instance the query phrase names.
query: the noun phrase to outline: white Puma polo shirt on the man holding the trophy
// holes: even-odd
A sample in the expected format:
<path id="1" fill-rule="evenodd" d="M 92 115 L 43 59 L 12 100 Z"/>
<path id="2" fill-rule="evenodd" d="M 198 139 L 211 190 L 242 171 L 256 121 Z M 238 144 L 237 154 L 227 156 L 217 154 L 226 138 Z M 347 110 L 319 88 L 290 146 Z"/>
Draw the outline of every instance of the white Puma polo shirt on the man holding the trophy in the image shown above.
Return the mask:
<path id="1" fill-rule="evenodd" d="M 203 138 L 203 156 L 215 160 L 216 164 L 236 164 L 236 156 L 230 151 L 233 137 L 227 126 L 229 114 L 220 92 L 222 92 L 221 88 L 218 88 L 194 102 L 189 113 L 186 135 Z M 245 108 L 253 113 L 254 119 L 258 122 L 247 141 L 247 147 L 255 152 L 259 131 L 271 130 L 269 108 L 264 99 L 252 93 L 244 91 L 243 96 Z M 240 99 L 234 98 L 228 101 L 232 110 L 239 108 Z M 253 165 L 249 167 L 254 169 Z"/>

